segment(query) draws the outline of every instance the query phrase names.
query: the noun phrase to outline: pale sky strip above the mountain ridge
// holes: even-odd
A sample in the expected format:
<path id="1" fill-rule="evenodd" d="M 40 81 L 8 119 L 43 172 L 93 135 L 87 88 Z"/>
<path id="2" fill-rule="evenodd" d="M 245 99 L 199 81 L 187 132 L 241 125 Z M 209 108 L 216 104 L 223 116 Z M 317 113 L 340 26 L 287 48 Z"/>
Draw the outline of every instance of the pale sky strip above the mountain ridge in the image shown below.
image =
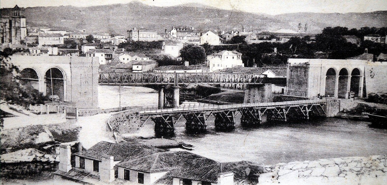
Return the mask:
<path id="1" fill-rule="evenodd" d="M 80 7 L 128 3 L 133 0 L 1 0 L 2 8 L 73 5 Z M 138 0 L 148 5 L 173 6 L 202 3 L 223 9 L 246 12 L 280 14 L 293 12 L 373 12 L 387 10 L 387 0 Z"/>

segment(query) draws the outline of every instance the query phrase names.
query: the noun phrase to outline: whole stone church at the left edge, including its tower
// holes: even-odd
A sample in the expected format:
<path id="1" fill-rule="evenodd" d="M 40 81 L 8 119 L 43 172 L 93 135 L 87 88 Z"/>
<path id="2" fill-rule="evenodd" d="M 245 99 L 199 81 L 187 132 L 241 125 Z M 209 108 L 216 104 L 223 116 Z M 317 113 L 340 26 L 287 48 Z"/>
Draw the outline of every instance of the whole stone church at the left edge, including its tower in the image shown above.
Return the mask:
<path id="1" fill-rule="evenodd" d="M 27 36 L 24 8 L 17 5 L 12 9 L 12 16 L 0 18 L 0 44 L 21 44 Z"/>

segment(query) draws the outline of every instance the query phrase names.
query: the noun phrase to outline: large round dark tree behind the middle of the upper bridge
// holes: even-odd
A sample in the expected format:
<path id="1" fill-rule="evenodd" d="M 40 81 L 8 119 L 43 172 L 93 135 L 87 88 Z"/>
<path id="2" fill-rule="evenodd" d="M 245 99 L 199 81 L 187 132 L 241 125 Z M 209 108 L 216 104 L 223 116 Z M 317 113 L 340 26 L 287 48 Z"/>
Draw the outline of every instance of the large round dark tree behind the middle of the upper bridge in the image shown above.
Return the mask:
<path id="1" fill-rule="evenodd" d="M 183 61 L 189 61 L 191 65 L 205 64 L 207 55 L 205 49 L 200 45 L 187 44 L 180 50 Z"/>

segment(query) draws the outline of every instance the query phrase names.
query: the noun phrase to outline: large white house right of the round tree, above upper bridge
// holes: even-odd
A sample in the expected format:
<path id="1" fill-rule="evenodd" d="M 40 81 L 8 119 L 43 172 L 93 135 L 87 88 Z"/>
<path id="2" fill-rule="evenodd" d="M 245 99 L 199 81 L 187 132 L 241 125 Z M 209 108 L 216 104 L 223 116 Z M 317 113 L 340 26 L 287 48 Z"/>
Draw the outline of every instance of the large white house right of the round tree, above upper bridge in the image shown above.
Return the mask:
<path id="1" fill-rule="evenodd" d="M 244 67 L 241 60 L 242 54 L 237 51 L 223 50 L 213 55 L 207 56 L 210 72 L 222 70 L 228 67 L 241 66 Z"/>

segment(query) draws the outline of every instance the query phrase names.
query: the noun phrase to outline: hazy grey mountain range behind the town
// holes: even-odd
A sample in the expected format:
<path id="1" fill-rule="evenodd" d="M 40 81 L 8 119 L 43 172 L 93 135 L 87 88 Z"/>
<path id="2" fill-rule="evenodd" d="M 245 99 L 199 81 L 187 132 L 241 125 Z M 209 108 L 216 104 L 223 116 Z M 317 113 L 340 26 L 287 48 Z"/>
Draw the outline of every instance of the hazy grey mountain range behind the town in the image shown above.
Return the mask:
<path id="1" fill-rule="evenodd" d="M 9 9 L 3 8 L 1 14 Z M 172 26 L 195 27 L 198 30 L 297 30 L 298 23 L 307 23 L 308 32 L 318 33 L 327 26 L 351 28 L 383 27 L 387 11 L 369 13 L 287 13 L 267 15 L 236 10 L 223 10 L 198 3 L 156 7 L 140 2 L 92 7 L 28 7 L 27 24 L 65 30 L 95 30 L 124 34 L 132 27 L 164 32 Z"/>

